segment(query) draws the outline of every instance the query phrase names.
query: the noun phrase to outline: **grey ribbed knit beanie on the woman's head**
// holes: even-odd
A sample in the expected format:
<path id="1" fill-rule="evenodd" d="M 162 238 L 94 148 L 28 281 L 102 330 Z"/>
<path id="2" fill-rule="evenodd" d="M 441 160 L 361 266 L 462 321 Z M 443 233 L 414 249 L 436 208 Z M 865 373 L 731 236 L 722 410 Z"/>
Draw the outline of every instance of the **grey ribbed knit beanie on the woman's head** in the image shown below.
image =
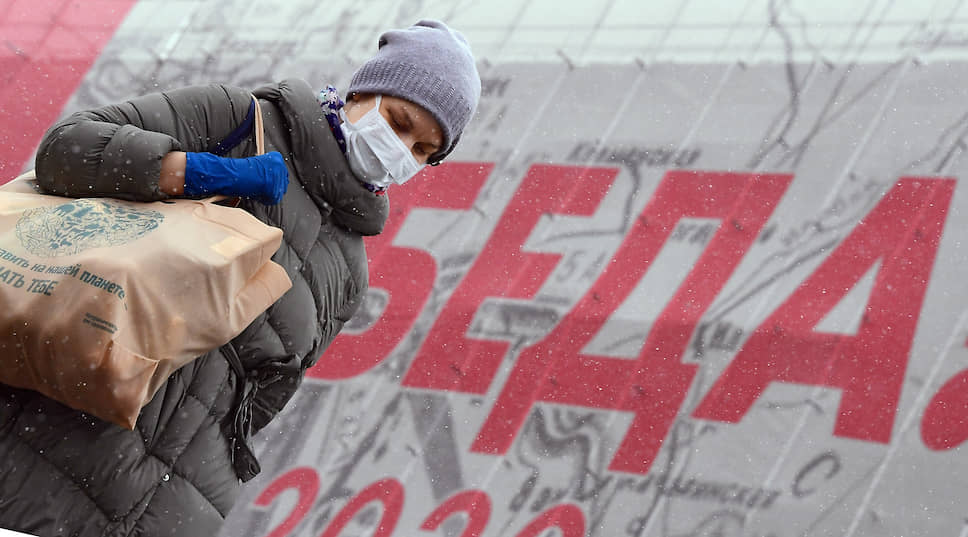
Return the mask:
<path id="1" fill-rule="evenodd" d="M 353 93 L 391 95 L 427 109 L 443 129 L 444 144 L 428 159 L 453 151 L 477 109 L 481 77 L 464 36 L 435 20 L 421 20 L 380 36 L 379 50 L 353 74 Z"/>

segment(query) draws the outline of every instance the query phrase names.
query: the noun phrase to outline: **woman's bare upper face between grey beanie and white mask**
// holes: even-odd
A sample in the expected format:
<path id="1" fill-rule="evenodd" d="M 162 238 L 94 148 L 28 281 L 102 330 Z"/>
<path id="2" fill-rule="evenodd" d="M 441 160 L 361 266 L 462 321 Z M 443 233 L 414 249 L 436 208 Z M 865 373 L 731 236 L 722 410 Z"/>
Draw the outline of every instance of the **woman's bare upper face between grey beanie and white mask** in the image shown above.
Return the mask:
<path id="1" fill-rule="evenodd" d="M 356 123 L 363 114 L 373 109 L 375 103 L 376 96 L 373 94 L 355 94 L 343 111 L 350 122 Z M 418 163 L 426 164 L 427 159 L 441 149 L 443 134 L 440 124 L 424 107 L 406 99 L 384 95 L 380 99 L 380 115 L 404 145 L 410 148 Z"/>

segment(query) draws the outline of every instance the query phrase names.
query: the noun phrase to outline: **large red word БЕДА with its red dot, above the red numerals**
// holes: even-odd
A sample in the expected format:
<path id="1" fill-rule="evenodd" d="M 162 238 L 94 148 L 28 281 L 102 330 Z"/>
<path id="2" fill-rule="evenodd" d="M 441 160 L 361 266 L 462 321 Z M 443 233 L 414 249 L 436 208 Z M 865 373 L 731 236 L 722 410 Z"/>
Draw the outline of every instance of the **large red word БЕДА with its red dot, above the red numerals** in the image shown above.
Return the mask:
<path id="1" fill-rule="evenodd" d="M 368 242 L 372 284 L 390 292 L 390 304 L 366 333 L 337 338 L 312 376 L 352 377 L 392 352 L 423 309 L 437 270 L 428 252 L 393 246 L 390 237 L 414 208 L 468 209 L 491 169 L 477 163 L 446 165 L 401 189 L 387 230 Z M 403 385 L 486 393 L 509 343 L 468 336 L 472 319 L 488 298 L 535 296 L 561 257 L 523 251 L 539 219 L 549 213 L 594 214 L 617 173 L 614 168 L 533 166 L 437 317 Z M 696 366 L 681 359 L 696 325 L 791 180 L 787 174 L 668 172 L 586 296 L 546 338 L 521 352 L 471 449 L 505 453 L 536 402 L 614 409 L 634 418 L 610 469 L 646 473 L 692 384 Z M 899 180 L 749 337 L 693 415 L 737 422 L 773 381 L 827 386 L 843 392 L 836 435 L 888 442 L 954 184 L 951 179 Z M 583 353 L 683 218 L 720 224 L 655 319 L 639 355 Z M 817 324 L 874 266 L 879 269 L 857 334 L 817 332 Z M 950 387 L 966 382 L 964 375 L 952 379 L 927 409 L 922 436 L 928 447 L 948 449 L 968 437 L 961 427 L 968 422 L 954 420 L 946 410 L 968 405 Z M 952 426 L 956 433 L 941 434 Z"/>

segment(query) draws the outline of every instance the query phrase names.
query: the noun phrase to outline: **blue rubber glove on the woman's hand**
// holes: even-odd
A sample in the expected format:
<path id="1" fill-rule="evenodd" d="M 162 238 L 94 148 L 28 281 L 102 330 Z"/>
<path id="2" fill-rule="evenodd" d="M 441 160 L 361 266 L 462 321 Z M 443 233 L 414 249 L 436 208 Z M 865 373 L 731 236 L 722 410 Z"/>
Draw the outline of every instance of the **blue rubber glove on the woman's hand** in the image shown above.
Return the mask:
<path id="1" fill-rule="evenodd" d="M 248 158 L 225 158 L 212 153 L 185 154 L 185 195 L 238 196 L 266 205 L 282 201 L 289 186 L 289 170 L 278 151 Z"/>

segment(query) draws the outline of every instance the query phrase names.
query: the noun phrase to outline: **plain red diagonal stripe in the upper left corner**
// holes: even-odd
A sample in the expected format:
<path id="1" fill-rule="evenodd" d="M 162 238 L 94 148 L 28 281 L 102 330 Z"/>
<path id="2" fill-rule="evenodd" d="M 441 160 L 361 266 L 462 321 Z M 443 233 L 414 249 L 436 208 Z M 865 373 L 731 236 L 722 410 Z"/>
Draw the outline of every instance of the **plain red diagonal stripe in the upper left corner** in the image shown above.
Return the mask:
<path id="1" fill-rule="evenodd" d="M 137 0 L 0 0 L 0 184 L 16 176 Z"/>

